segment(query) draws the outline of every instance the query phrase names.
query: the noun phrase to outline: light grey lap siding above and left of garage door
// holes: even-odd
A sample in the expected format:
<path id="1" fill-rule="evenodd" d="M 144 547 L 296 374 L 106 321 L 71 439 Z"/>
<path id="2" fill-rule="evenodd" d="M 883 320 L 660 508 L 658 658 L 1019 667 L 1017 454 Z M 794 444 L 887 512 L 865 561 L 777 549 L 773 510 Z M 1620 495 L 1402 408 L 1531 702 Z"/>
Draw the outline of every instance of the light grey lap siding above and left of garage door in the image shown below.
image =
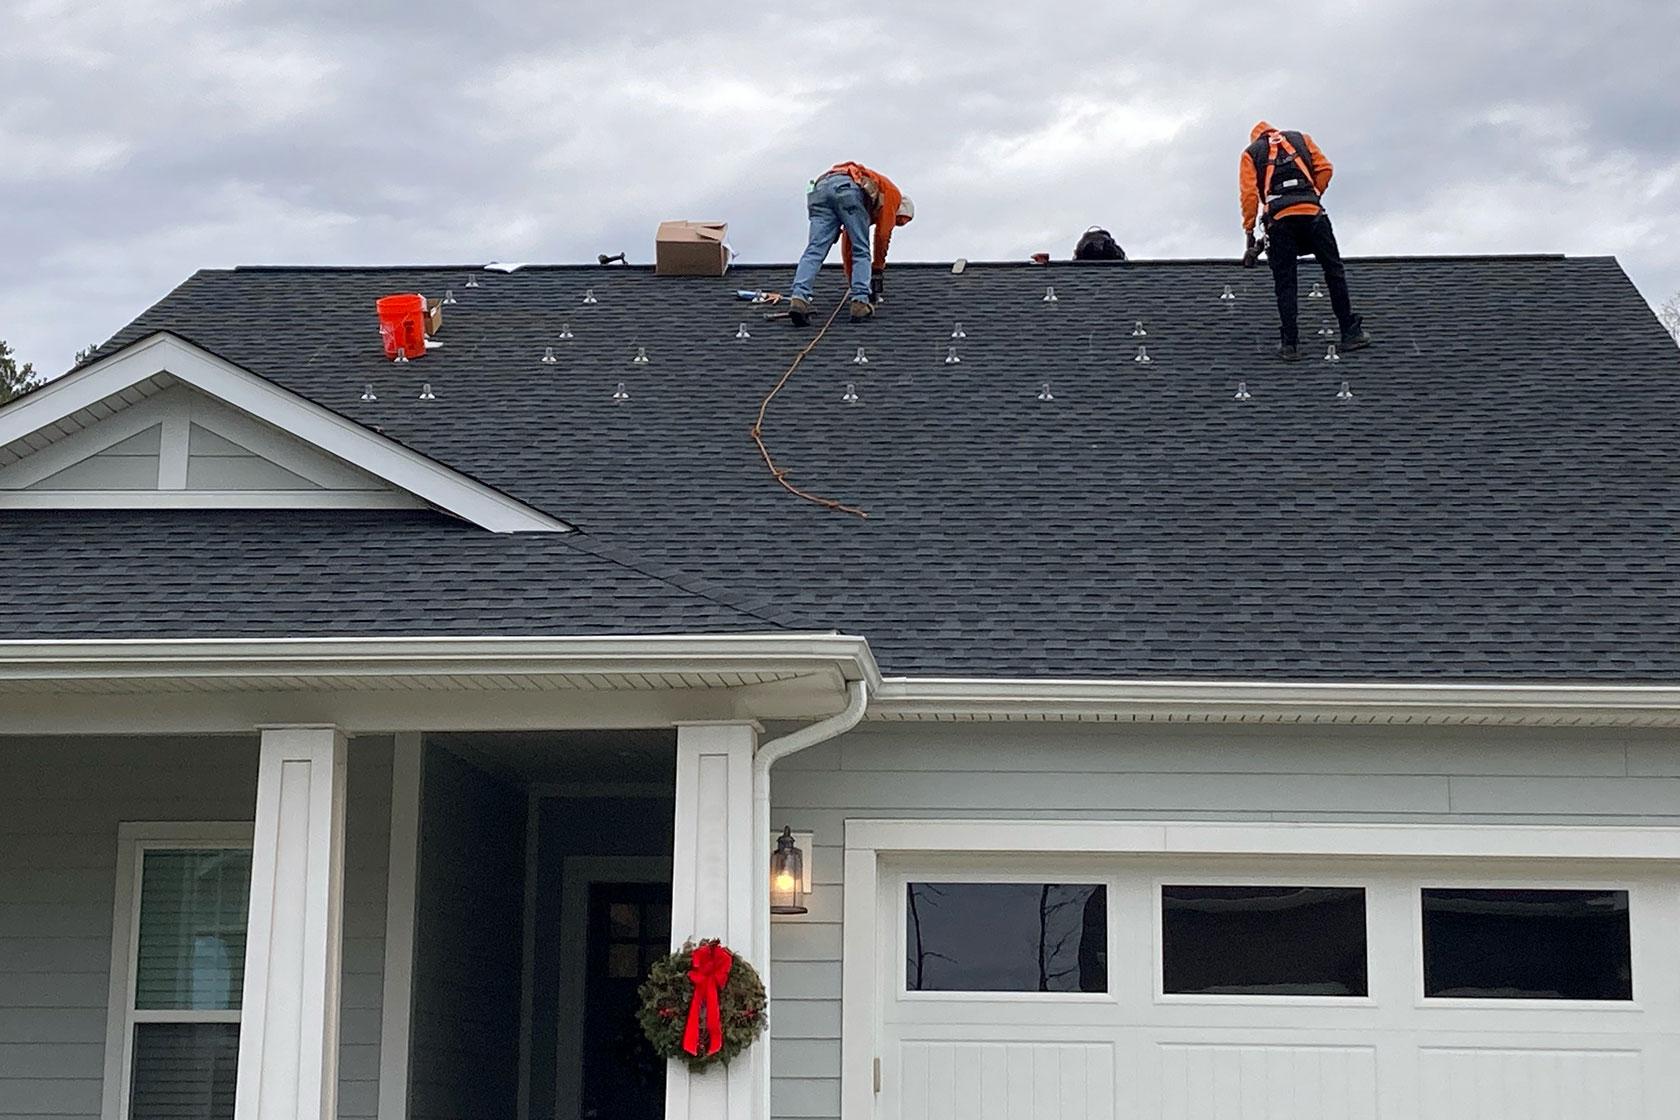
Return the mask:
<path id="1" fill-rule="evenodd" d="M 1515 727 L 864 724 L 773 771 L 815 833 L 771 937 L 771 1112 L 840 1115 L 847 818 L 1680 824 L 1680 734 Z"/>

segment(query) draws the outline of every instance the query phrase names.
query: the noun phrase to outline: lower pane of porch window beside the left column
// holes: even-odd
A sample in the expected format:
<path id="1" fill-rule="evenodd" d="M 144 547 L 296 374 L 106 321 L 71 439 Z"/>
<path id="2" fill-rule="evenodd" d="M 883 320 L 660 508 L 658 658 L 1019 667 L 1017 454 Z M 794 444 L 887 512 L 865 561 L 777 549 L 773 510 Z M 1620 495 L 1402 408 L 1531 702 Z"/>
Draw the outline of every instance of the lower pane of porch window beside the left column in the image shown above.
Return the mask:
<path id="1" fill-rule="evenodd" d="M 237 1073 L 237 1024 L 138 1023 L 129 1120 L 232 1117 Z"/>

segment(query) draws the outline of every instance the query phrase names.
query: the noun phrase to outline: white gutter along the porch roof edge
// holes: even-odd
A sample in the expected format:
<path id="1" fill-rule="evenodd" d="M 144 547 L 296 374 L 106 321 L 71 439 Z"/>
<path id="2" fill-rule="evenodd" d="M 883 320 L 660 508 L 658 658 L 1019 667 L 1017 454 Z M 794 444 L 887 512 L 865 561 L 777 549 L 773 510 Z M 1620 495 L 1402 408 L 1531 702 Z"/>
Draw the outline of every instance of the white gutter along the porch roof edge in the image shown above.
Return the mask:
<path id="1" fill-rule="evenodd" d="M 845 635 L 0 641 L 0 680 L 820 670 L 880 682 L 869 643 Z"/>

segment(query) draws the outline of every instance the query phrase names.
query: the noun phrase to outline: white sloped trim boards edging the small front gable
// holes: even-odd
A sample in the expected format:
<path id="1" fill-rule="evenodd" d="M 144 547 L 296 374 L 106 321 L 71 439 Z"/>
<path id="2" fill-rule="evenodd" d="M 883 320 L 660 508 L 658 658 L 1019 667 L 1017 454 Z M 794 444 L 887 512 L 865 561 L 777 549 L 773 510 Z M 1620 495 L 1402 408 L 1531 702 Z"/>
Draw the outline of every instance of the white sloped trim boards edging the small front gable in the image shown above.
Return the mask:
<path id="1" fill-rule="evenodd" d="M 492 532 L 571 526 L 168 332 L 74 369 L 0 410 L 0 447 L 104 398 L 170 373 L 240 411 Z"/>

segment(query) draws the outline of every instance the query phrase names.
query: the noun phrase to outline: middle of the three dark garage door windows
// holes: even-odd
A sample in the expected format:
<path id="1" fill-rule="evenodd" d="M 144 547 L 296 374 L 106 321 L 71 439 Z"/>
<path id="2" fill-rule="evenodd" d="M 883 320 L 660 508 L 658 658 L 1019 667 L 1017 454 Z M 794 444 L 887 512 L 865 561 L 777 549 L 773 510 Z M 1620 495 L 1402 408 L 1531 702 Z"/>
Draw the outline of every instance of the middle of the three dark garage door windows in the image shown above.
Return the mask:
<path id="1" fill-rule="evenodd" d="M 1166 992 L 1364 996 L 1361 887 L 1163 887 Z"/>

